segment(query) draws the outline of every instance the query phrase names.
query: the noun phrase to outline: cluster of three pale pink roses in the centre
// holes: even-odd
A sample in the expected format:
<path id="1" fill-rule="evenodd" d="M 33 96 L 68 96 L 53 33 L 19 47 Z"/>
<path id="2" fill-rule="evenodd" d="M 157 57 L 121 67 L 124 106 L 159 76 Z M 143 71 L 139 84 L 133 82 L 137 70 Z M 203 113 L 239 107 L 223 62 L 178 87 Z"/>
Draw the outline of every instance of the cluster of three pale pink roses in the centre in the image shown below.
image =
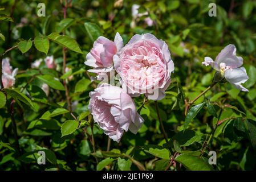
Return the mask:
<path id="1" fill-rule="evenodd" d="M 145 94 L 161 100 L 170 85 L 174 64 L 167 44 L 152 34 L 134 35 L 124 46 L 117 32 L 114 41 L 100 36 L 86 56 L 85 64 L 97 79 L 115 70 L 121 87 L 106 83 L 90 93 L 89 110 L 109 138 L 119 142 L 128 129 L 136 134 L 144 122 L 132 97 Z"/>

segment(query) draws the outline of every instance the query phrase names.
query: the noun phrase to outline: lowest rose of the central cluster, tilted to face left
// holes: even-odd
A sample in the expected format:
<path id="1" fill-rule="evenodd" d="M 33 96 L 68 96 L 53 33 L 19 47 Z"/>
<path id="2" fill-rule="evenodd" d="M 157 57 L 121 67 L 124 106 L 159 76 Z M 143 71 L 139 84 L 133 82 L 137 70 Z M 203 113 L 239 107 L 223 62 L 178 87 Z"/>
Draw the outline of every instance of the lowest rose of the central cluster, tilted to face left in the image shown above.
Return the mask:
<path id="1" fill-rule="evenodd" d="M 101 84 L 90 92 L 89 110 L 104 133 L 119 142 L 128 129 L 136 134 L 144 119 L 137 113 L 135 103 L 117 86 Z"/>

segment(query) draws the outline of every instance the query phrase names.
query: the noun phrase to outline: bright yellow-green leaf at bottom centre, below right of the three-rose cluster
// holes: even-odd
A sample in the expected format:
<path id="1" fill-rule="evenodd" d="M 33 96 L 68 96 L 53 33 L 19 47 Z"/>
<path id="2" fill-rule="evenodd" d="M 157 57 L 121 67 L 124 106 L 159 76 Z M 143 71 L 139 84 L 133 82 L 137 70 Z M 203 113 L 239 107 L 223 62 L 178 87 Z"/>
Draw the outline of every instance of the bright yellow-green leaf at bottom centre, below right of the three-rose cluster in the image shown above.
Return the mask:
<path id="1" fill-rule="evenodd" d="M 158 158 L 161 159 L 170 159 L 170 153 L 167 148 L 164 148 L 162 146 L 157 146 L 157 145 L 147 145 L 147 146 L 142 146 L 143 150 L 149 154 L 152 154 L 154 156 L 157 156 Z"/>

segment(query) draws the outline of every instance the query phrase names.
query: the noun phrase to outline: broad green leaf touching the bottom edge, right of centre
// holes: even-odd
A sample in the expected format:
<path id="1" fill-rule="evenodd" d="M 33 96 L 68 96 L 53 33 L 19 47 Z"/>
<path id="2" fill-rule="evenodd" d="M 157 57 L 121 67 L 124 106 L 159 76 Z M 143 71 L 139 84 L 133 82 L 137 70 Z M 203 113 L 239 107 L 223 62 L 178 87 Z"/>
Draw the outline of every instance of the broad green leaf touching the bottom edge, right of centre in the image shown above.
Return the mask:
<path id="1" fill-rule="evenodd" d="M 175 160 L 181 163 L 185 168 L 192 171 L 212 171 L 213 168 L 210 164 L 206 163 L 203 159 L 197 158 L 193 155 L 181 154 L 178 155 Z"/>

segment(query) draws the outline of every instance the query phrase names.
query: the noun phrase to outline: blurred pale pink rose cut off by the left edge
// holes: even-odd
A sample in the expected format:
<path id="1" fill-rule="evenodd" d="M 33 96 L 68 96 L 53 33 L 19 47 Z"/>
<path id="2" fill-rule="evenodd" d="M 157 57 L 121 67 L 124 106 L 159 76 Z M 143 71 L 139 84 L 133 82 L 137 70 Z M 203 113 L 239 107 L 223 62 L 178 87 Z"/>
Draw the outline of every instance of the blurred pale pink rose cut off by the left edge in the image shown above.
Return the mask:
<path id="1" fill-rule="evenodd" d="M 17 75 L 18 68 L 13 70 L 10 65 L 10 59 L 6 57 L 2 60 L 2 82 L 4 88 L 11 88 L 15 84 L 15 76 Z"/>

